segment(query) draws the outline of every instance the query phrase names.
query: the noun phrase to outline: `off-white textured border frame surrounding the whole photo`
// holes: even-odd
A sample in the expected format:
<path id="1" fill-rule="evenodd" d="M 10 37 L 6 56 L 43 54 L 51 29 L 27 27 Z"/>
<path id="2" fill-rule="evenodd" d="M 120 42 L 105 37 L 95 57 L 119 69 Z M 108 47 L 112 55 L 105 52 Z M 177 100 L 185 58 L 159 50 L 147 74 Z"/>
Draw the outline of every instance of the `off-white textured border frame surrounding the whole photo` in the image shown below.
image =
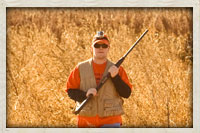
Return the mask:
<path id="1" fill-rule="evenodd" d="M 6 128 L 6 7 L 193 7 L 193 128 Z M 0 0 L 0 132 L 200 132 L 200 0 Z"/>

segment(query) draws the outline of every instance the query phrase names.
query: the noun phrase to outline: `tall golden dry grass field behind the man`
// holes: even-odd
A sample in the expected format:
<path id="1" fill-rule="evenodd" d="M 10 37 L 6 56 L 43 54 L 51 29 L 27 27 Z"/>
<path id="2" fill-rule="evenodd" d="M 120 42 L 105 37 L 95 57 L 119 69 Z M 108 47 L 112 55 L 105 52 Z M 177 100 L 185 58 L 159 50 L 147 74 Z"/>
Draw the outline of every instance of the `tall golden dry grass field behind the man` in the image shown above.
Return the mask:
<path id="1" fill-rule="evenodd" d="M 123 127 L 193 127 L 192 24 L 189 8 L 8 8 L 7 127 L 76 127 L 66 81 L 96 31 L 116 62 L 145 29 L 122 64 Z"/>

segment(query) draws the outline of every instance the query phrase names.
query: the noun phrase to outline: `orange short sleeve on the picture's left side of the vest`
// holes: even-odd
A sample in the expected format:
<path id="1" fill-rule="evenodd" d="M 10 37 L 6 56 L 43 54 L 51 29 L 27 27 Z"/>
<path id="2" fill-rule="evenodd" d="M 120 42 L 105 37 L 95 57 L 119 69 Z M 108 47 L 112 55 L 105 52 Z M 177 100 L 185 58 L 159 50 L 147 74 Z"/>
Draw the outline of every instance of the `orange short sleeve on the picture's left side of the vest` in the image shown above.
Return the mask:
<path id="1" fill-rule="evenodd" d="M 78 66 L 74 68 L 74 70 L 71 72 L 67 79 L 67 89 L 79 89 L 80 88 L 80 75 L 79 75 L 79 69 Z"/>

